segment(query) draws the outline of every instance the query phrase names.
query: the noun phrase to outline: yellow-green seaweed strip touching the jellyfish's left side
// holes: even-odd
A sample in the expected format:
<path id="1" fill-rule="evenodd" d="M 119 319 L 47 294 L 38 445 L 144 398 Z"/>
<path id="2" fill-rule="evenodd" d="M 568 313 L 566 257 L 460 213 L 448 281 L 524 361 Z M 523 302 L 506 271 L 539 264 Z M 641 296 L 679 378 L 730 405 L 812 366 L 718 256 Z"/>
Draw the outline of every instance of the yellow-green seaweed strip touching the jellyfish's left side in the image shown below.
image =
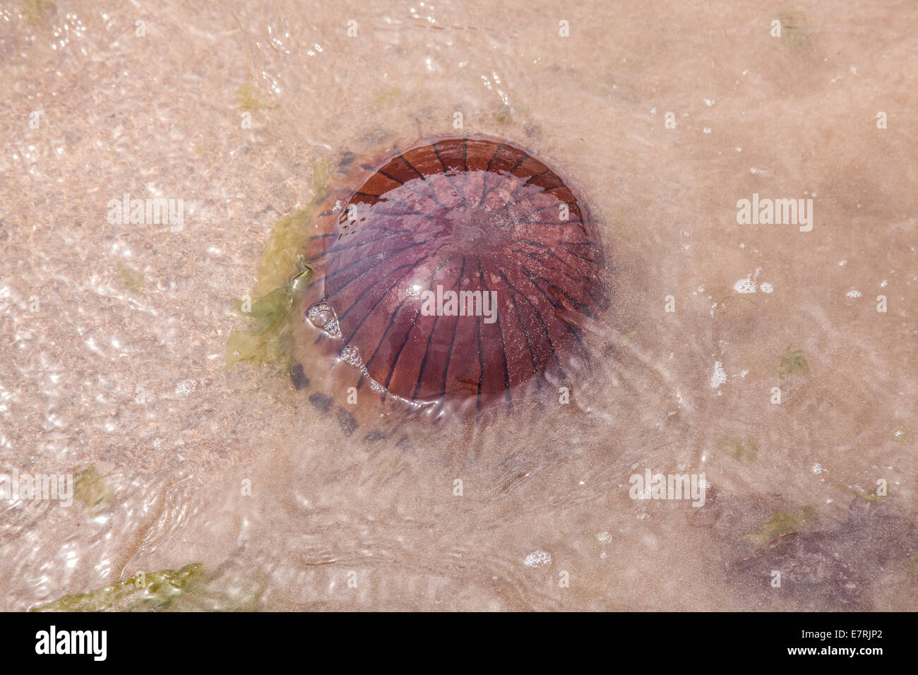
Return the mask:
<path id="1" fill-rule="evenodd" d="M 258 328 L 232 332 L 227 339 L 226 367 L 240 361 L 252 366 L 289 366 L 293 362 L 289 316 L 295 311 L 312 277 L 306 262 L 308 229 L 329 180 L 329 163 L 317 160 L 312 165 L 315 195 L 306 208 L 278 220 L 264 242 L 258 264 L 258 285 L 252 307 L 236 309 L 258 322 Z"/>

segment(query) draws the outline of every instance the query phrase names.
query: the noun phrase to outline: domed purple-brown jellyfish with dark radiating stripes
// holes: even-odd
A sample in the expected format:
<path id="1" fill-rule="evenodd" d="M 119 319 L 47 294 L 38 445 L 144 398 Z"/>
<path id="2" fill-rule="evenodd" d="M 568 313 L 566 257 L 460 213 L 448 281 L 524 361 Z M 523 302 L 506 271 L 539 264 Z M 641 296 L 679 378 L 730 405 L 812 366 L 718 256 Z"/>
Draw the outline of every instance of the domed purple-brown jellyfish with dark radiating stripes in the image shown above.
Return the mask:
<path id="1" fill-rule="evenodd" d="M 356 387 L 480 411 L 588 368 L 604 249 L 585 205 L 532 155 L 424 142 L 330 200 L 308 244 L 301 317 L 316 331 L 303 348 L 354 366 Z"/>

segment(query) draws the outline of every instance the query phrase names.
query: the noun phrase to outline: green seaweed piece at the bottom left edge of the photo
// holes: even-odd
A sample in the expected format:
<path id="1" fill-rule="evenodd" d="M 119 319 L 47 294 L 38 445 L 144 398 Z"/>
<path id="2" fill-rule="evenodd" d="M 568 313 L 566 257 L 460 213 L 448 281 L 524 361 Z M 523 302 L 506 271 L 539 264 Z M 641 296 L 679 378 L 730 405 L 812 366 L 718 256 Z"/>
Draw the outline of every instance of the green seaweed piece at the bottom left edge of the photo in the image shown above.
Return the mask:
<path id="1" fill-rule="evenodd" d="M 191 563 L 178 571 L 163 569 L 138 573 L 129 579 L 95 591 L 65 595 L 59 600 L 32 607 L 29 612 L 149 612 L 167 608 L 178 600 L 189 584 L 200 579 L 203 565 Z"/>

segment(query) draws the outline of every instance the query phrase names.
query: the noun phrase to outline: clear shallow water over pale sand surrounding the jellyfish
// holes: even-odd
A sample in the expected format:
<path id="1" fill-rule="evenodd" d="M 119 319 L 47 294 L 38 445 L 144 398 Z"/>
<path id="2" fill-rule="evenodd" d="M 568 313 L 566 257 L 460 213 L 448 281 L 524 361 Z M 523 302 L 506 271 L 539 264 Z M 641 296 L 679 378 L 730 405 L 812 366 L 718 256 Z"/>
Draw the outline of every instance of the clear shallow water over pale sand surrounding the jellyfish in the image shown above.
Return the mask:
<path id="1" fill-rule="evenodd" d="M 0 7 L 0 472 L 99 478 L 0 501 L 0 609 L 192 562 L 177 608 L 916 609 L 916 48 L 909 2 Z M 598 220 L 599 377 L 364 442 L 224 370 L 314 168 L 456 113 Z M 812 231 L 738 224 L 754 193 Z"/>

